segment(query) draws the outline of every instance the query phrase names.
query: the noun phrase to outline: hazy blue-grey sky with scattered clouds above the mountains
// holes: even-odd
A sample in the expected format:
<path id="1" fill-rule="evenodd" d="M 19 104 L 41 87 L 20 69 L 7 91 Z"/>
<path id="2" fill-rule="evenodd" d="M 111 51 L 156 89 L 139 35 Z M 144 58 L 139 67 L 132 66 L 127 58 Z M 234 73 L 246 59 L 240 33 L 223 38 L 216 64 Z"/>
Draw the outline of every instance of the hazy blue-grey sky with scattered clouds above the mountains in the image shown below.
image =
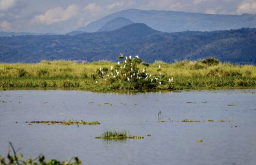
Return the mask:
<path id="1" fill-rule="evenodd" d="M 256 14 L 256 0 L 0 0 L 0 31 L 65 34 L 129 8 Z"/>

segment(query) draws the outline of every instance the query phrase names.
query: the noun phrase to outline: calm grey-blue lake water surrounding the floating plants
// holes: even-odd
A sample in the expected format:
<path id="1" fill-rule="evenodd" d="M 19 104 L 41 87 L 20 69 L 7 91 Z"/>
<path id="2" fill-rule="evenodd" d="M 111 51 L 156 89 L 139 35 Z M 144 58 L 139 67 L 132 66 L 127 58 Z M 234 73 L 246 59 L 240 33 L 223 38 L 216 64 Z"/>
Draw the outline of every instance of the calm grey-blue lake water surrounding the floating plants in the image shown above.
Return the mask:
<path id="1" fill-rule="evenodd" d="M 0 103 L 0 154 L 6 155 L 11 141 L 25 158 L 43 153 L 46 159 L 69 160 L 77 155 L 83 164 L 255 165 L 255 93 L 255 89 L 133 94 L 2 91 L 0 100 L 7 103 Z M 173 122 L 158 123 L 159 110 L 162 120 Z M 101 125 L 25 123 L 65 119 Z M 214 122 L 183 123 L 183 119 Z M 106 129 L 129 130 L 144 139 L 95 139 Z"/>

